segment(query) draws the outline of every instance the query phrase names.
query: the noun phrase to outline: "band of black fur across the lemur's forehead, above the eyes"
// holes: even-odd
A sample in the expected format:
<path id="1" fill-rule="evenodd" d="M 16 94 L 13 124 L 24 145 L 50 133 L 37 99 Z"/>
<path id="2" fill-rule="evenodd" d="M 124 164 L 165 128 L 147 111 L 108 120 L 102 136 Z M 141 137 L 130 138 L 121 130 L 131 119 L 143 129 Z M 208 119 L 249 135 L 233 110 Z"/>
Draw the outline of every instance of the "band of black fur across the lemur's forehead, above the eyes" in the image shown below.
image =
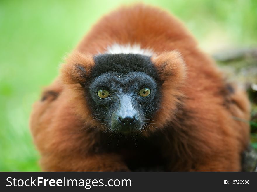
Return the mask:
<path id="1" fill-rule="evenodd" d="M 91 78 L 96 78 L 105 72 L 127 74 L 130 71 L 140 71 L 160 83 L 157 69 L 150 56 L 140 54 L 101 54 L 94 57 L 94 62 L 95 66 L 91 71 Z"/>

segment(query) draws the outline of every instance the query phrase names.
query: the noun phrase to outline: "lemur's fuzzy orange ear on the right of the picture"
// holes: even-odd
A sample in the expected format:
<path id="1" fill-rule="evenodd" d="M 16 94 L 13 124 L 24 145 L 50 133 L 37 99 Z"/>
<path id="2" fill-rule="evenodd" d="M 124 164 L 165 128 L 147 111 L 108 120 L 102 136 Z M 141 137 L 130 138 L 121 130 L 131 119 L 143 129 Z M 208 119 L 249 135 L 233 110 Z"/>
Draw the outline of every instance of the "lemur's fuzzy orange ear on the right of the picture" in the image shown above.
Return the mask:
<path id="1" fill-rule="evenodd" d="M 170 81 L 174 85 L 185 80 L 186 65 L 178 51 L 164 52 L 152 57 L 152 61 L 163 81 Z"/>

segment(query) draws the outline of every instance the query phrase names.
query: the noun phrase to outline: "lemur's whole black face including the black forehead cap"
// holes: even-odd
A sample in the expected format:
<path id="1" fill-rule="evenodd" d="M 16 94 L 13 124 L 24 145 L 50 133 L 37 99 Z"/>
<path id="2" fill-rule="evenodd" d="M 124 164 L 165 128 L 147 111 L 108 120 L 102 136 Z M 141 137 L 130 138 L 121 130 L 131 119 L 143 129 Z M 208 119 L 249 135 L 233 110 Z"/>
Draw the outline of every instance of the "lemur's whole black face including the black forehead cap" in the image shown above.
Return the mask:
<path id="1" fill-rule="evenodd" d="M 98 67 L 107 72 L 97 74 Z M 154 116 L 160 104 L 160 82 L 149 57 L 101 55 L 95 57 L 95 68 L 91 73 L 91 77 L 96 77 L 89 80 L 88 103 L 95 119 L 109 130 L 125 134 L 147 127 L 146 121 Z"/>

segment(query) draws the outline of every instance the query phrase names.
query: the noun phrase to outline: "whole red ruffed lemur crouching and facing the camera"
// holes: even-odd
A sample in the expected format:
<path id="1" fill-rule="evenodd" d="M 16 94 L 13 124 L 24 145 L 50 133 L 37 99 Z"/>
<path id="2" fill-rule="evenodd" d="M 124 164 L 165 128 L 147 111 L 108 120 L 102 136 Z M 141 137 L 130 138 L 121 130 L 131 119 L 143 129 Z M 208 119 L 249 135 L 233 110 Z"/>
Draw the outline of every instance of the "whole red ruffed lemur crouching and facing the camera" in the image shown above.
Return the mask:
<path id="1" fill-rule="evenodd" d="M 44 171 L 240 171 L 249 101 L 174 16 L 104 16 L 34 104 Z"/>

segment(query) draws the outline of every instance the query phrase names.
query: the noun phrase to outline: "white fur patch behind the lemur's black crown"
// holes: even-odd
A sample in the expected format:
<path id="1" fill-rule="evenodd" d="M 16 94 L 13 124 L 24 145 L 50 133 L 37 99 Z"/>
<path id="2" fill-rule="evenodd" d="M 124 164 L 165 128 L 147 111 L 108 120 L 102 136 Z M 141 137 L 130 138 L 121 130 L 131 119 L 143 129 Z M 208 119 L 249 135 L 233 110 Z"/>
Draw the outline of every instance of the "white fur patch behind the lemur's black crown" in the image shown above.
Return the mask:
<path id="1" fill-rule="evenodd" d="M 154 54 L 152 49 L 141 49 L 140 44 L 113 44 L 107 47 L 107 54 L 141 54 L 146 56 L 152 56 Z"/>

